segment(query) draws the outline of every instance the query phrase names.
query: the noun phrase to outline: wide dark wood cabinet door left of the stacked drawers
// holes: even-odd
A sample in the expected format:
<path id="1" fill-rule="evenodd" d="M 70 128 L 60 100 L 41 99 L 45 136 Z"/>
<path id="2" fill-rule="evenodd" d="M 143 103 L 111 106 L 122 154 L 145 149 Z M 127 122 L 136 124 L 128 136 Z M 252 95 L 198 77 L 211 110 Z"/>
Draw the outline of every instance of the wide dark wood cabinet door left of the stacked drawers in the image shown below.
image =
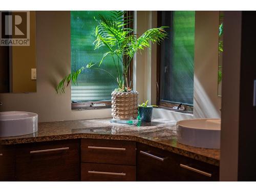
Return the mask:
<path id="1" fill-rule="evenodd" d="M 18 145 L 16 147 L 17 180 L 80 180 L 79 145 L 79 140 Z"/>

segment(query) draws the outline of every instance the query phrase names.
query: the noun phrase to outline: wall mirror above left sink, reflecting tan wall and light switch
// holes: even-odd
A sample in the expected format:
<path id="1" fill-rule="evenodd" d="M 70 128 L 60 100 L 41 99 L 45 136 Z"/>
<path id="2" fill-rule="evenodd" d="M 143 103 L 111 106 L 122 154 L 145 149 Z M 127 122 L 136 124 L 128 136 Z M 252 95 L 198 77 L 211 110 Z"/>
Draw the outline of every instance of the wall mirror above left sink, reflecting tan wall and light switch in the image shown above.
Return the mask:
<path id="1" fill-rule="evenodd" d="M 0 13 L 0 93 L 36 92 L 35 11 Z"/>

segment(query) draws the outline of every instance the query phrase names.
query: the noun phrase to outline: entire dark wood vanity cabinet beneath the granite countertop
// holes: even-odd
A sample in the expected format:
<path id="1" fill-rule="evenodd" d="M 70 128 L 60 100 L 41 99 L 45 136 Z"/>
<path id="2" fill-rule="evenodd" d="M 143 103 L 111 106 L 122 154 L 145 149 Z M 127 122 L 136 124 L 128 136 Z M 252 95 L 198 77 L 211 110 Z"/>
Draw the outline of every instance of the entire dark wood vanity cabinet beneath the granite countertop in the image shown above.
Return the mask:
<path id="1" fill-rule="evenodd" d="M 135 141 L 0 146 L 0 181 L 218 181 L 219 167 Z"/>

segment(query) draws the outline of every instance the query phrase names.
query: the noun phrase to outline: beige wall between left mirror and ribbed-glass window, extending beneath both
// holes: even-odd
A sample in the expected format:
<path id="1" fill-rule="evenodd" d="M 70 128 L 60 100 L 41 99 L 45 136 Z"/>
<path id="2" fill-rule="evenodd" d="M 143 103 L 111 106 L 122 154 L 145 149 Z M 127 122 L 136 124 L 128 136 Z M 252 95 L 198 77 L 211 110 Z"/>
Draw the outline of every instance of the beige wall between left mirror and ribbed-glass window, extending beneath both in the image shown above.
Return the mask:
<path id="1" fill-rule="evenodd" d="M 37 92 L 0 94 L 0 111 L 29 111 L 40 122 L 111 117 L 111 110 L 71 111 L 71 90 L 57 95 L 55 87 L 70 73 L 70 12 L 36 12 Z"/>

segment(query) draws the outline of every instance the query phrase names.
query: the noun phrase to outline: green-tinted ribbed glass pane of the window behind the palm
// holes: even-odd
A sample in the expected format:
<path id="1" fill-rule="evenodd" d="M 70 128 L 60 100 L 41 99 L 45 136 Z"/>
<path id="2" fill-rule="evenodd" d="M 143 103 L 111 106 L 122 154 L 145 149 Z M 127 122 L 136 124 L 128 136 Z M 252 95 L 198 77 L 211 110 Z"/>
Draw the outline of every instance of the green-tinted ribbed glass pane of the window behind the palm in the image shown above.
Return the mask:
<path id="1" fill-rule="evenodd" d="M 110 16 L 111 11 L 71 11 L 71 71 L 86 67 L 90 62 L 99 63 L 103 54 L 108 52 L 106 47 L 94 50 L 93 42 L 99 14 Z M 95 18 L 94 18 L 95 17 Z M 106 57 L 100 68 L 116 76 L 111 65 L 111 57 Z M 96 64 L 98 65 L 98 64 Z M 111 100 L 111 92 L 117 88 L 116 80 L 108 73 L 85 69 L 81 72 L 76 83 L 71 86 L 72 101 Z"/>

